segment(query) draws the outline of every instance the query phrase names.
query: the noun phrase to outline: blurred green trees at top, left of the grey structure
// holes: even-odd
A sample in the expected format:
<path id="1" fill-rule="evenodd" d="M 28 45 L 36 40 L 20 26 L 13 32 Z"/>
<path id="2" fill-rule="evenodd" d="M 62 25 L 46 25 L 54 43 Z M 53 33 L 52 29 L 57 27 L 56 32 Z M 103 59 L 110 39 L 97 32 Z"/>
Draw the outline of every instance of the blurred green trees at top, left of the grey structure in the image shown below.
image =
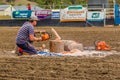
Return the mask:
<path id="1" fill-rule="evenodd" d="M 87 0 L 28 0 L 38 3 L 39 6 L 46 5 L 46 8 L 59 8 L 60 6 L 67 7 L 69 5 L 85 5 Z"/>

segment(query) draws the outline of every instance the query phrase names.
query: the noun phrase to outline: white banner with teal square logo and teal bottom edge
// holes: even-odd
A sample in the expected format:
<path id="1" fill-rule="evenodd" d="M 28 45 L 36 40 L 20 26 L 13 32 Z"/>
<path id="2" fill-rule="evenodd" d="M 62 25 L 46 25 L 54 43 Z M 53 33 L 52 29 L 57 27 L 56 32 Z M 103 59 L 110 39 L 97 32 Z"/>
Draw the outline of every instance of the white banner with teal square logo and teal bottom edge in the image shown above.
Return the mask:
<path id="1" fill-rule="evenodd" d="M 105 13 L 102 11 L 88 11 L 87 20 L 88 21 L 102 21 L 104 20 Z"/>

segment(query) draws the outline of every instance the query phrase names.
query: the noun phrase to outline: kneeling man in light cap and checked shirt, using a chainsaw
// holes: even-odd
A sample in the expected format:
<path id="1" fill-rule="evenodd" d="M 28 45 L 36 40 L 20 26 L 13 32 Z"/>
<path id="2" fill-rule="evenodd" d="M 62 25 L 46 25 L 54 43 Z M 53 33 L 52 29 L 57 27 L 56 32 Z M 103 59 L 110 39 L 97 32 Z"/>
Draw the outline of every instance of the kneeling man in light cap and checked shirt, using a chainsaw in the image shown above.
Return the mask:
<path id="1" fill-rule="evenodd" d="M 42 38 L 35 37 L 34 27 L 38 21 L 37 17 L 31 17 L 29 21 L 25 22 L 19 29 L 16 37 L 16 45 L 22 49 L 22 52 L 29 55 L 37 54 L 37 50 L 33 46 L 32 42 L 42 41 Z"/>

